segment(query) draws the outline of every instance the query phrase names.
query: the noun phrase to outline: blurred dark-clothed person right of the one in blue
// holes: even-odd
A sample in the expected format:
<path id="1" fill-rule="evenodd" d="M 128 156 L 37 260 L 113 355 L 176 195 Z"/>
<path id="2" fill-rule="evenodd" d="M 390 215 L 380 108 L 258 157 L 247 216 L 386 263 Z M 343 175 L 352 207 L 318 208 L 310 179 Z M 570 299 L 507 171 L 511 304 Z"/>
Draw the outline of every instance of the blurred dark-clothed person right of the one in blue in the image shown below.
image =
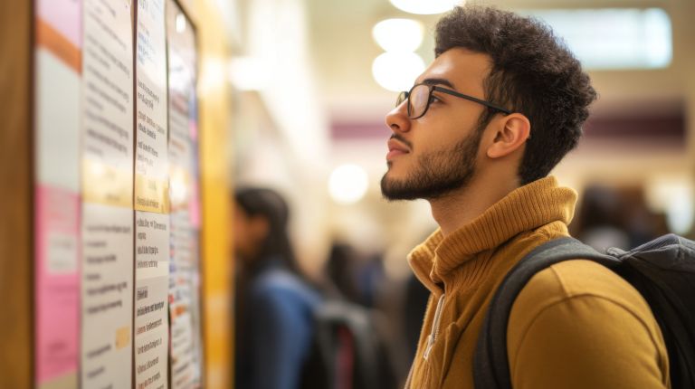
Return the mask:
<path id="1" fill-rule="evenodd" d="M 348 242 L 333 242 L 325 268 L 326 300 L 317 315 L 319 349 L 331 384 L 321 389 L 396 387 L 388 350 L 389 327 L 379 291 L 386 283 L 381 256 L 365 256 Z M 309 385 L 307 385 L 309 388 Z"/>

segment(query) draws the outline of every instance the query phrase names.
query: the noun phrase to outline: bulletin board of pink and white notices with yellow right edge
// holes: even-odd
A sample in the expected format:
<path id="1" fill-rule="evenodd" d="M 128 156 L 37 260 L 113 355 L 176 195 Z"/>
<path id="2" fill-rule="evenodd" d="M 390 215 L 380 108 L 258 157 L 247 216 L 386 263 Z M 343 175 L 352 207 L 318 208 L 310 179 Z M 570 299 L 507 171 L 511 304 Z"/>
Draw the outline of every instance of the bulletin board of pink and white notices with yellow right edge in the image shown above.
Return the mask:
<path id="1" fill-rule="evenodd" d="M 34 2 L 35 387 L 230 384 L 213 3 Z"/>

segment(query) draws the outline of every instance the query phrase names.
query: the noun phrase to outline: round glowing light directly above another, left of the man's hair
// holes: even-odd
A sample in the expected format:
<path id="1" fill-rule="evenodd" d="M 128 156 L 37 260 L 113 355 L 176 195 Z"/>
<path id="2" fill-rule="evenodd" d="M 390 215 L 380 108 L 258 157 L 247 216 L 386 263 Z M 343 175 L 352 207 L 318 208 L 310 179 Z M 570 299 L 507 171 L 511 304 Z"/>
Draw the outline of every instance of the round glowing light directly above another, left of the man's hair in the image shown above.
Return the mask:
<path id="1" fill-rule="evenodd" d="M 386 19 L 372 29 L 376 43 L 386 52 L 414 52 L 423 43 L 423 24 L 413 19 Z"/>

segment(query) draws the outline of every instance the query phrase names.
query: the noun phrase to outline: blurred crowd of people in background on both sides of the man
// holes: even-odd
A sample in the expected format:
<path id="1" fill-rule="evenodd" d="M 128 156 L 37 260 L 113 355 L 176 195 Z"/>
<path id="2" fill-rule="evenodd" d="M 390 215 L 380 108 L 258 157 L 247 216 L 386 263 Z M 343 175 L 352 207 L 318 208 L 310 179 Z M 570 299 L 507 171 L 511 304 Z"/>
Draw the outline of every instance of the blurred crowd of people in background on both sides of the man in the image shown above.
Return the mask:
<path id="1" fill-rule="evenodd" d="M 352 242 L 333 242 L 321 276 L 309 278 L 281 194 L 243 188 L 233 208 L 236 387 L 402 387 L 429 291 L 412 274 L 390 278 L 382 252 Z M 669 232 L 636 186 L 587 185 L 570 228 L 600 251 Z"/>

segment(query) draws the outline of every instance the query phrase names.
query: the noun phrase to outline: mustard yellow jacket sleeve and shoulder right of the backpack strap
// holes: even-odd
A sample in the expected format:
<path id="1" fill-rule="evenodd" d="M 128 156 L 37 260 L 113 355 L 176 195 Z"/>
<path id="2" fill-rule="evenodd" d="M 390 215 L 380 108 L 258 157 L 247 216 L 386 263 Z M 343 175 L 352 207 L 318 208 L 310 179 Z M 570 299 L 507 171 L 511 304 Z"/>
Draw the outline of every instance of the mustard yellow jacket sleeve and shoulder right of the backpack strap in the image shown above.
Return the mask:
<path id="1" fill-rule="evenodd" d="M 614 274 L 592 270 L 599 265 L 578 266 L 543 270 L 519 293 L 507 339 L 512 386 L 670 387 L 662 334 L 646 302 Z M 581 280 L 592 271 L 594 279 Z"/>

